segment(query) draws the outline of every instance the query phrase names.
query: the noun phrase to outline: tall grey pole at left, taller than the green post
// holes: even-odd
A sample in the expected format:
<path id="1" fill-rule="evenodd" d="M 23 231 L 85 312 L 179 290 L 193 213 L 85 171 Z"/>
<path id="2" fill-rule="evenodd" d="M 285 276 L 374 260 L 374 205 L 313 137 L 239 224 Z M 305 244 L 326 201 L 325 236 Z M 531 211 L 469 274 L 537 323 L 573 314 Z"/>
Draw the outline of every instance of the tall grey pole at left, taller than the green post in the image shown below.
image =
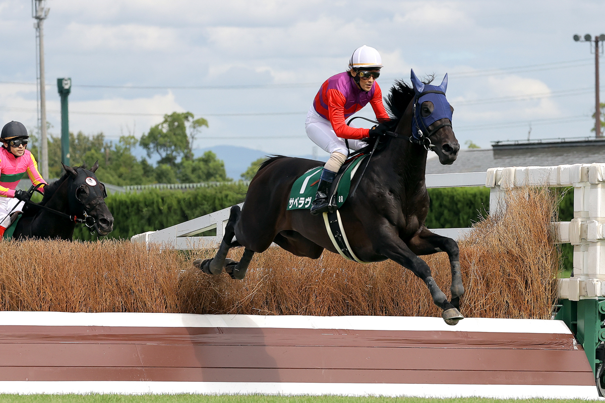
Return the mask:
<path id="1" fill-rule="evenodd" d="M 34 28 L 38 37 L 38 74 L 40 92 L 40 174 L 42 178 L 48 179 L 48 141 L 46 127 L 46 82 L 44 79 L 44 20 L 48 16 L 50 8 L 46 6 L 46 0 L 31 0 L 32 17 L 36 19 Z"/>

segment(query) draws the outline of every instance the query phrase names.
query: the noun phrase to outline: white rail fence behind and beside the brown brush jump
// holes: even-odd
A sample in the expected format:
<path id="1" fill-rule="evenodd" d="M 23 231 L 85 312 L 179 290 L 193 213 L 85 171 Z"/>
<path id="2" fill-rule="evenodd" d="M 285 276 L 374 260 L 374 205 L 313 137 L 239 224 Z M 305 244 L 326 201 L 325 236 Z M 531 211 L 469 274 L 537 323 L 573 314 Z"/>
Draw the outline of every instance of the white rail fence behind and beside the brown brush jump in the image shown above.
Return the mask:
<path id="1" fill-rule="evenodd" d="M 605 164 L 551 167 L 491 168 L 487 172 L 427 175 L 427 187 L 490 188 L 489 211 L 501 208 L 506 190 L 523 186 L 574 187 L 574 219 L 553 223 L 559 243 L 574 245 L 574 277 L 561 279 L 559 295 L 577 301 L 605 295 Z M 216 247 L 229 219 L 229 208 L 132 237 L 132 242 L 159 243 L 163 248 L 189 250 Z M 196 236 L 216 228 L 216 236 Z M 457 239 L 469 228 L 431 231 Z"/>

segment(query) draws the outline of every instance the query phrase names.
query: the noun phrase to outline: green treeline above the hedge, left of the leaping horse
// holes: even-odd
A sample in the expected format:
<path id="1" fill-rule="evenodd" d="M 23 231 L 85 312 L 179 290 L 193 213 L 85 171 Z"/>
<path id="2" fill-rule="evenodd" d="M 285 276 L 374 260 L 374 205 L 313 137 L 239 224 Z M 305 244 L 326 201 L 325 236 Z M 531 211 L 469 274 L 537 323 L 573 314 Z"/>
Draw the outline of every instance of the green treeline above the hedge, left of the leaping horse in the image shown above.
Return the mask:
<path id="1" fill-rule="evenodd" d="M 73 166 L 86 164 L 88 167 L 99 160 L 96 172 L 100 181 L 119 186 L 146 185 L 152 183 L 197 183 L 226 182 L 224 163 L 215 153 L 207 151 L 194 158 L 192 144 L 201 127 L 208 127 L 204 118 L 194 119 L 190 112 L 174 112 L 164 116 L 164 121 L 151 127 L 141 141 L 133 135 L 122 136 L 119 141 L 106 141 L 102 133 L 87 136 L 82 132 L 70 133 L 70 161 Z M 38 155 L 36 137 L 31 136 L 28 149 Z M 137 160 L 132 155 L 140 144 L 151 156 L 160 154 L 157 166 L 145 158 Z M 48 136 L 48 169 L 51 179 L 62 175 L 60 137 Z M 179 161 L 180 159 L 180 161 Z"/>

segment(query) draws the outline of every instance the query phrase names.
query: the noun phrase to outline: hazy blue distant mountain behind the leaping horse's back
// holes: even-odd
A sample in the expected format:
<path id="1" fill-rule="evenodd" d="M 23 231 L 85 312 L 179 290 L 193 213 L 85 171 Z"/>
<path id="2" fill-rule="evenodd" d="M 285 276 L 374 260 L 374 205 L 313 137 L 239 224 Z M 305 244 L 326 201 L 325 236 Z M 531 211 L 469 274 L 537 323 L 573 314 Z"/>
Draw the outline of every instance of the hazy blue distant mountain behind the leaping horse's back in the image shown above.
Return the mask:
<path id="1" fill-rule="evenodd" d="M 203 155 L 206 151 L 212 151 L 217 155 L 219 160 L 223 160 L 225 163 L 225 170 L 227 172 L 227 176 L 229 178 L 233 178 L 235 180 L 240 179 L 240 175 L 243 172 L 246 172 L 246 169 L 252 164 L 253 161 L 258 160 L 258 158 L 263 158 L 268 156 L 269 154 L 260 150 L 249 149 L 246 147 L 236 147 L 236 146 L 214 146 L 205 149 L 195 149 L 194 156 L 198 157 Z M 309 158 L 313 160 L 312 155 L 296 155 L 300 158 Z M 327 153 L 322 152 L 321 155 L 317 156 L 317 160 L 319 161 L 327 161 L 329 155 Z"/>

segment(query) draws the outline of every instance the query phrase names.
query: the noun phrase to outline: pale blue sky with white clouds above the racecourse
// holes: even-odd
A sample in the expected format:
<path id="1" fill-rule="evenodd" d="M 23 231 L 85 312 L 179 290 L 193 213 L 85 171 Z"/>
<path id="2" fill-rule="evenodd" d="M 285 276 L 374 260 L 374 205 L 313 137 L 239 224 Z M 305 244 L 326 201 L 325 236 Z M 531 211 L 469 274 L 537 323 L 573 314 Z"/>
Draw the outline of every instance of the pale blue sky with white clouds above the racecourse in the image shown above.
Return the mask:
<path id="1" fill-rule="evenodd" d="M 364 44 L 382 54 L 383 92 L 393 79 L 409 82 L 410 68 L 435 73 L 438 82 L 450 74 L 447 95 L 460 143 L 526 139 L 530 124 L 533 139 L 589 136 L 594 125 L 594 55 L 572 36 L 605 33 L 601 1 L 48 0 L 47 6 L 54 134 L 56 79 L 71 77 L 71 131 L 140 137 L 163 114 L 191 111 L 209 121 L 196 147 L 310 154 L 304 132 L 310 103 Z M 36 77 L 33 21 L 30 2 L 0 0 L 1 124 L 36 124 L 35 86 L 27 84 Z M 371 117 L 367 109 L 361 114 Z"/>

